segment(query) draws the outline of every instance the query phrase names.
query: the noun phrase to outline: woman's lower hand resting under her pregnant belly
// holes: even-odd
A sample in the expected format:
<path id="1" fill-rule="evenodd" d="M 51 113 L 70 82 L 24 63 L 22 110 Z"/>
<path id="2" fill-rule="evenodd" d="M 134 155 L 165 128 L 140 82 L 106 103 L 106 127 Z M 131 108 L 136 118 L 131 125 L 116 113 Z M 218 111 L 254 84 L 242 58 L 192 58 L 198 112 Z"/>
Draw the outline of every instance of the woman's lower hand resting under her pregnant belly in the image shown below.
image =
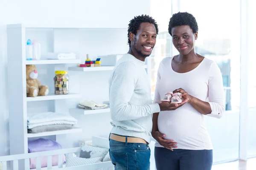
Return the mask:
<path id="1" fill-rule="evenodd" d="M 152 131 L 151 132 L 152 136 L 154 139 L 157 140 L 157 142 L 159 144 L 161 144 L 163 147 L 165 147 L 166 149 L 169 149 L 169 150 L 172 150 L 172 148 L 176 148 L 176 142 L 174 142 L 173 140 L 166 140 L 166 139 L 163 139 L 163 137 L 165 136 L 165 134 L 163 133 L 160 133 L 159 131 Z"/>

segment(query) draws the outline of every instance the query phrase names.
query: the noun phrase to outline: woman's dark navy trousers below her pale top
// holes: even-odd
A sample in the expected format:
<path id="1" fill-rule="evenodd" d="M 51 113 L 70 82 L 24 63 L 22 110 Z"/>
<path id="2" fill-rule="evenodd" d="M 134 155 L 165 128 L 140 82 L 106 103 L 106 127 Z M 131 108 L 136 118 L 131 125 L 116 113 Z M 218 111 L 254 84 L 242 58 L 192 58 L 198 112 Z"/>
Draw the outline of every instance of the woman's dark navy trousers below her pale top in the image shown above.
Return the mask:
<path id="1" fill-rule="evenodd" d="M 212 150 L 168 150 L 155 147 L 157 170 L 211 170 Z"/>

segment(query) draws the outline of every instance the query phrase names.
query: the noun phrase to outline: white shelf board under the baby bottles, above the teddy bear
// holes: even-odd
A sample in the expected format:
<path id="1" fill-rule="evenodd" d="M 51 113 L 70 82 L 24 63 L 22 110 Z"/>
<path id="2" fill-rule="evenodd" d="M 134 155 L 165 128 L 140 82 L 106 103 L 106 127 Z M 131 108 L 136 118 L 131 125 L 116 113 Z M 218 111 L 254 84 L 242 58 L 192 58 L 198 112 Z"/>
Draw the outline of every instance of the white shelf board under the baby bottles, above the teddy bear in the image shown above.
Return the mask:
<path id="1" fill-rule="evenodd" d="M 42 59 L 42 60 L 26 60 L 26 65 L 34 64 L 77 64 L 81 63 L 81 59 Z"/>

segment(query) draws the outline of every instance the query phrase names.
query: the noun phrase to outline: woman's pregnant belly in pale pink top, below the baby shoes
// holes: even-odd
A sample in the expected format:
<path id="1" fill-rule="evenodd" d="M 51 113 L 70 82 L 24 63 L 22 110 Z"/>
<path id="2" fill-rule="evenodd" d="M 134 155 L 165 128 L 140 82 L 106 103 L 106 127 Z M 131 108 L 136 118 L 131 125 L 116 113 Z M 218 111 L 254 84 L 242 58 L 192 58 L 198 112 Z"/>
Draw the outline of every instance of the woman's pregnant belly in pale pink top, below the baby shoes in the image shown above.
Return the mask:
<path id="1" fill-rule="evenodd" d="M 174 140 L 178 148 L 211 147 L 211 141 L 201 115 L 195 113 L 160 113 L 158 130 L 164 139 Z"/>

